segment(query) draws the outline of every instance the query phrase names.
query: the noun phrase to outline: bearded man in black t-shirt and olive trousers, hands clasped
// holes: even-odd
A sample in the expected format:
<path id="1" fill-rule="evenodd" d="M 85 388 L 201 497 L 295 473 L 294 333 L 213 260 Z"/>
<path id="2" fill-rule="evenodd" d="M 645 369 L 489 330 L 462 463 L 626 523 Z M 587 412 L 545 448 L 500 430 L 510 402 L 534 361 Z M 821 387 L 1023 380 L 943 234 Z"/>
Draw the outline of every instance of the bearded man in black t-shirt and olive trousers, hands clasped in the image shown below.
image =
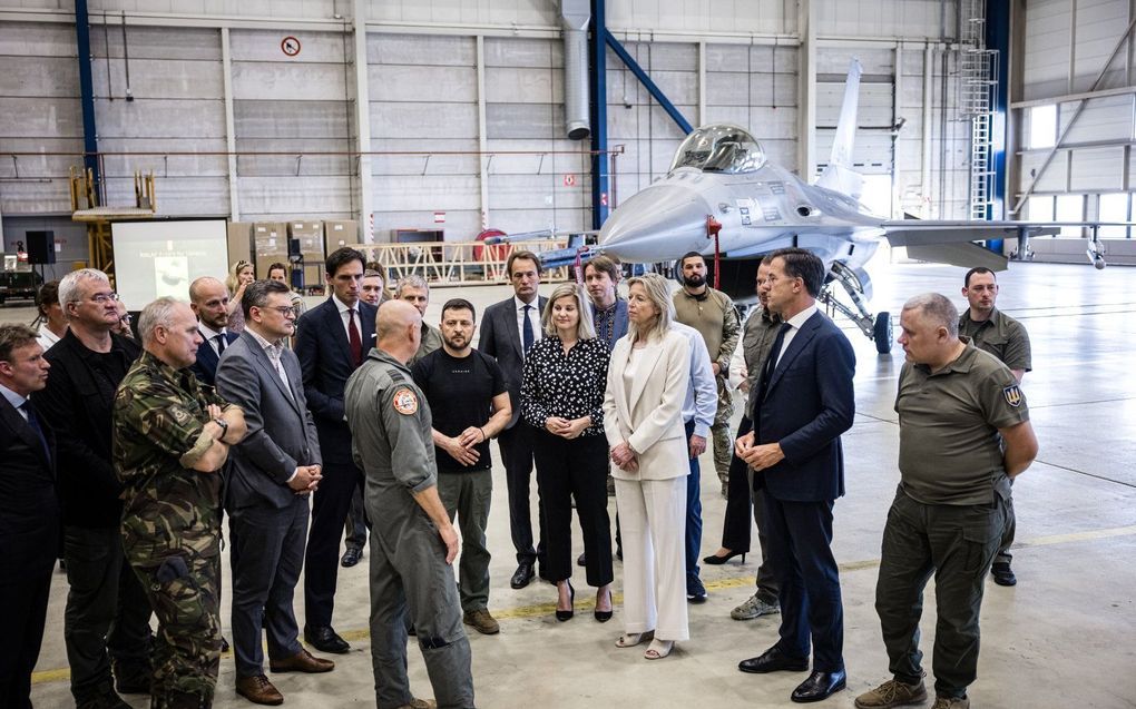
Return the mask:
<path id="1" fill-rule="evenodd" d="M 473 348 L 474 306 L 453 298 L 442 306 L 442 348 L 412 366 L 433 416 L 437 492 L 458 517 L 465 540 L 458 565 L 462 622 L 479 633 L 500 632 L 488 611 L 490 551 L 485 527 L 493 495 L 490 439 L 512 417 L 501 368 Z"/>

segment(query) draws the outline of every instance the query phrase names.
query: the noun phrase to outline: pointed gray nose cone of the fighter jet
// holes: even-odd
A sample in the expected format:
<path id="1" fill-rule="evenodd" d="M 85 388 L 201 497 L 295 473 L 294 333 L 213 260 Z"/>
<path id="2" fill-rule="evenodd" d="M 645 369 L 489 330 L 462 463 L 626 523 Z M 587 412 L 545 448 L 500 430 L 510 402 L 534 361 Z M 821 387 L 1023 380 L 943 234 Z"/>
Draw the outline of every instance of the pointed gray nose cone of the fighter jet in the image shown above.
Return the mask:
<path id="1" fill-rule="evenodd" d="M 620 261 L 653 262 L 702 251 L 707 214 L 702 196 L 686 186 L 658 184 L 624 202 L 600 230 L 600 248 Z"/>

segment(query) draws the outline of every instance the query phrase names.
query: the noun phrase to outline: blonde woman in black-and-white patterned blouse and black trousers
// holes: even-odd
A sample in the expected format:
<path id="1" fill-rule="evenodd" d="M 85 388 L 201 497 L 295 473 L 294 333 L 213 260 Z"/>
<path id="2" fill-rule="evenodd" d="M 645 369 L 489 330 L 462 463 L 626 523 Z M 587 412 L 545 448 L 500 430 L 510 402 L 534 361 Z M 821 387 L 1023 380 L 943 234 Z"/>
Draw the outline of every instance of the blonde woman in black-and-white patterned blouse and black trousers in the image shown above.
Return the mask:
<path id="1" fill-rule="evenodd" d="M 544 571 L 557 584 L 557 619 L 575 615 L 571 586 L 571 503 L 584 533 L 595 619 L 611 619 L 611 521 L 608 517 L 608 448 L 603 391 L 608 345 L 595 337 L 591 310 L 573 284 L 557 286 L 544 305 L 544 337 L 525 355 L 520 413 L 535 429 L 533 457 L 544 505 Z"/>

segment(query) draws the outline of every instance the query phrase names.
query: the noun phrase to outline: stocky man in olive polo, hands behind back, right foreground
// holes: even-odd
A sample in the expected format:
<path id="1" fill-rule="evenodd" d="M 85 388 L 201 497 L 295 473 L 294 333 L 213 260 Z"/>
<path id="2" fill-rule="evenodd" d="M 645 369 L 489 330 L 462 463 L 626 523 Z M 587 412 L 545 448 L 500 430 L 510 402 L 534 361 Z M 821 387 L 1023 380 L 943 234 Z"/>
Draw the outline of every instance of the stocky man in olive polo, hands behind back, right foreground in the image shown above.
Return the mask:
<path id="1" fill-rule="evenodd" d="M 935 575 L 932 709 L 968 709 L 978 669 L 986 569 L 1005 523 L 1010 480 L 1037 455 L 1026 399 L 1010 370 L 958 335 L 959 313 L 938 294 L 903 306 L 900 344 L 900 487 L 884 527 L 876 611 L 893 678 L 858 709 L 924 701 L 919 617 Z"/>

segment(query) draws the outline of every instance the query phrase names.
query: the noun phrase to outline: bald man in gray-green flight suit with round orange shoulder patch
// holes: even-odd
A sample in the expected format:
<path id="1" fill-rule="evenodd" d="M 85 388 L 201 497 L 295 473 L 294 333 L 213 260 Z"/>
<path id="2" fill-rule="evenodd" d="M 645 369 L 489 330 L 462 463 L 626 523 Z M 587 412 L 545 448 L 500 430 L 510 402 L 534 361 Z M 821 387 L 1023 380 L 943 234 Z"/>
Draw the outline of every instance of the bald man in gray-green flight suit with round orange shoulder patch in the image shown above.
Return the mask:
<path id="1" fill-rule="evenodd" d="M 418 351 L 421 314 L 406 301 L 378 309 L 376 346 L 348 379 L 344 410 L 364 469 L 370 533 L 370 655 L 378 709 L 431 707 L 407 677 L 407 619 L 437 706 L 474 707 L 469 639 L 453 577 L 458 533 L 437 493 L 432 419 L 407 362 Z"/>

